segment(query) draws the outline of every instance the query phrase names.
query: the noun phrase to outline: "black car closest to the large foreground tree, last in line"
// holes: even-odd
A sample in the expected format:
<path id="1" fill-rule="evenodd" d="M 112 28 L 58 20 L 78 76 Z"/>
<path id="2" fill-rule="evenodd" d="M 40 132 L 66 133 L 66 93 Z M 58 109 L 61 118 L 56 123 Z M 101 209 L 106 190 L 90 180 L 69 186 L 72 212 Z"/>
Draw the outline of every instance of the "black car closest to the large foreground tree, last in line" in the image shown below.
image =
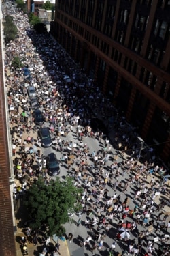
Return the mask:
<path id="1" fill-rule="evenodd" d="M 60 173 L 60 167 L 58 164 L 58 160 L 56 158 L 56 154 L 50 153 L 47 156 L 47 169 L 49 175 L 58 175 Z"/>

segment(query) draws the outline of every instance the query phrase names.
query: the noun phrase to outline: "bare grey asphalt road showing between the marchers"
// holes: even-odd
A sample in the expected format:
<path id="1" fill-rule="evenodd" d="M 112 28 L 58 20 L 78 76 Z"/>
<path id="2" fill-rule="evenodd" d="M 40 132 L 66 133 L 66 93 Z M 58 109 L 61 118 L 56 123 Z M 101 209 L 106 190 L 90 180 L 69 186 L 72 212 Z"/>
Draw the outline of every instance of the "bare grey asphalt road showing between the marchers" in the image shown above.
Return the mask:
<path id="1" fill-rule="evenodd" d="M 47 44 L 48 44 L 48 42 L 47 42 Z M 99 109 L 99 111 L 98 111 L 98 109 Z M 98 111 L 98 114 L 99 114 L 98 117 L 99 117 L 100 116 L 100 106 L 98 106 L 98 107 L 96 106 L 95 111 Z M 95 113 L 95 114 L 97 114 L 97 113 Z M 46 123 L 45 126 L 49 126 L 49 123 Z M 66 138 L 62 137 L 62 139 L 64 139 L 65 141 L 66 140 L 67 141 L 72 140 L 73 142 L 78 143 L 78 145 L 79 145 L 80 141 L 78 139 L 78 136 L 75 134 L 75 129 L 76 129 L 76 127 L 73 127 L 73 130 L 71 132 L 69 132 L 67 137 Z M 114 130 L 110 130 L 109 134 L 114 136 Z M 34 139 L 37 139 L 37 133 L 33 134 L 33 137 L 34 137 Z M 55 136 L 52 135 L 52 138 L 54 139 Z M 104 146 L 104 141 L 101 140 L 101 142 L 99 142 L 97 139 L 92 139 L 90 137 L 84 137 L 83 143 L 87 143 L 87 146 L 89 147 L 90 152 L 89 152 L 88 160 L 89 160 L 90 163 L 92 163 L 92 160 L 91 160 L 92 152 L 93 151 L 97 152 L 97 150 L 101 150 L 102 147 Z M 49 147 L 47 149 L 44 149 L 44 148 L 41 147 L 41 151 L 42 151 L 42 154 L 44 154 L 44 156 L 47 156 L 50 152 L 56 153 L 56 156 L 57 156 L 58 160 L 61 159 L 61 156 L 63 156 L 63 153 L 67 154 L 67 152 L 63 152 L 63 153 L 56 152 L 54 145 L 52 145 L 52 147 Z M 105 173 L 108 173 L 108 168 L 107 167 L 109 167 L 112 164 L 112 162 L 114 160 L 114 155 L 117 153 L 117 151 L 114 149 L 114 147 L 112 147 L 112 145 L 111 145 L 111 150 L 110 151 L 111 152 L 109 152 L 109 160 L 107 161 L 107 164 L 105 165 Z M 122 156 L 119 155 L 119 158 L 118 158 L 117 162 L 120 162 L 121 160 L 122 160 Z M 75 167 L 76 167 L 76 165 L 74 164 L 73 168 L 75 168 Z M 61 173 L 59 174 L 59 177 L 61 179 L 64 179 L 65 176 L 68 174 L 67 165 L 60 165 L 60 168 L 61 168 Z M 103 174 L 103 175 L 105 175 L 105 174 Z M 120 176 L 118 177 L 118 182 L 122 181 L 122 184 L 124 184 L 124 182 L 129 180 L 129 177 L 131 175 L 132 175 L 131 173 L 125 173 L 125 175 L 122 176 L 122 170 L 120 170 Z M 151 179 L 151 178 L 152 177 L 149 177 L 149 179 Z M 82 179 L 82 177 L 81 177 L 81 179 Z M 113 179 L 113 182 L 116 182 L 115 178 Z M 150 180 L 146 181 L 147 184 L 149 182 L 150 182 Z M 83 182 L 82 182 L 82 187 L 84 188 Z M 133 210 L 135 208 L 135 205 L 139 203 L 139 201 L 134 200 L 135 189 L 137 189 L 137 184 L 131 184 L 129 186 L 128 190 L 126 191 L 126 195 L 122 191 L 120 191 L 119 189 L 116 189 L 116 191 L 114 191 L 113 188 L 111 188 L 108 184 L 105 186 L 105 188 L 108 188 L 108 190 L 109 190 L 109 193 L 108 193 L 109 197 L 113 196 L 114 193 L 117 193 L 118 195 L 121 195 L 121 200 L 120 200 L 121 202 L 123 202 L 126 197 L 129 197 L 129 199 L 130 199 L 129 200 L 129 208 L 131 210 Z M 88 196 L 90 191 L 91 191 L 91 188 L 88 188 L 88 193 L 86 193 L 86 197 Z M 96 201 L 96 198 L 92 197 L 91 200 Z M 103 203 L 105 203 L 105 199 L 102 199 L 102 201 L 103 201 Z M 105 215 L 105 212 L 103 212 L 102 214 Z M 94 212 L 90 216 L 90 218 L 92 218 L 95 215 L 96 215 L 96 213 Z M 152 214 L 152 218 L 154 218 L 154 220 L 156 220 L 157 216 L 158 216 L 158 212 L 154 212 L 154 214 Z M 79 218 L 79 216 L 77 216 L 76 214 L 73 214 L 73 216 L 71 217 L 72 221 L 69 222 L 69 223 L 65 223 L 66 235 L 68 236 L 69 233 L 73 233 L 73 241 L 71 243 L 68 242 L 69 251 L 70 251 L 71 255 L 73 255 L 73 252 L 75 250 L 80 248 L 79 240 L 81 240 L 81 239 L 86 240 L 86 237 L 88 235 L 90 235 L 90 236 L 92 236 L 92 238 L 94 238 L 94 231 L 97 229 L 97 225 L 94 226 L 94 229 L 92 229 L 92 231 L 90 229 L 87 229 L 84 226 L 84 221 L 86 219 L 86 214 L 82 214 L 82 216 L 81 216 L 82 223 L 80 224 L 79 227 L 77 227 L 76 222 L 78 221 L 78 218 Z M 122 214 L 120 214 L 120 216 L 118 217 L 118 220 L 117 219 L 112 220 L 112 228 L 109 229 L 109 232 L 107 233 L 107 236 L 105 237 L 103 247 L 101 248 L 100 251 L 97 249 L 97 251 L 94 253 L 94 255 L 103 255 L 103 256 L 109 255 L 109 247 L 115 241 L 116 233 L 118 232 L 117 223 L 121 218 L 122 218 Z M 132 221 L 132 219 L 127 217 L 125 219 L 125 221 Z M 137 236 L 138 236 L 139 232 L 142 231 L 142 230 L 147 231 L 148 226 L 143 227 L 142 225 L 138 225 L 137 229 L 135 229 L 134 231 L 129 232 L 130 233 L 129 240 L 127 242 L 119 242 L 116 245 L 116 252 L 121 253 L 124 249 L 128 249 L 129 241 L 133 240 L 134 238 L 135 238 L 135 240 L 137 240 Z M 103 229 L 101 229 L 101 231 L 103 231 Z M 145 251 L 148 240 L 153 241 L 154 237 L 156 237 L 156 236 L 158 236 L 158 239 L 160 240 L 160 237 L 163 236 L 163 233 L 160 233 L 160 232 L 154 233 L 154 232 L 155 232 L 155 230 L 152 232 L 152 234 L 148 234 L 147 239 L 144 240 L 143 246 L 142 246 L 142 253 L 144 253 L 144 251 Z M 160 241 L 158 241 L 155 244 L 156 249 L 158 248 L 158 244 L 160 244 Z M 90 246 L 84 247 L 84 254 L 86 256 L 87 255 L 92 255 L 92 253 L 90 251 L 90 247 L 92 246 L 92 241 L 90 241 L 89 245 Z M 154 251 L 152 254 L 156 255 L 157 251 Z"/>

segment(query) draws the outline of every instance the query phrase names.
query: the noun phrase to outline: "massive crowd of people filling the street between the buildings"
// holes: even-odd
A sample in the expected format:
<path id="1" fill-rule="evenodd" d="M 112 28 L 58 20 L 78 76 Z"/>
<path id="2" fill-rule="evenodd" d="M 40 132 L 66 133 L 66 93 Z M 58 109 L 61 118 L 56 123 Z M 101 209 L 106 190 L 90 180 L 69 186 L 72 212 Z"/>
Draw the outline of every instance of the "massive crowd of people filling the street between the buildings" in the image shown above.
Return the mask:
<path id="1" fill-rule="evenodd" d="M 92 253 L 107 249 L 105 255 L 116 251 L 121 255 L 167 255 L 169 183 L 161 180 L 165 167 L 152 157 L 152 149 L 150 159 L 139 156 L 135 132 L 49 33 L 37 35 L 27 14 L 14 6 L 9 14 L 18 27 L 18 37 L 5 46 L 14 199 L 24 195 L 39 175 L 46 184 L 50 179 L 43 168 L 40 126 L 34 123 L 27 96 L 27 87 L 33 86 L 61 166 L 75 186 L 84 188 L 77 226 L 83 225 L 90 234 L 84 239 L 69 232 L 69 242 L 75 239 Z M 23 67 L 12 66 L 15 56 L 22 59 L 29 76 Z M 114 136 L 109 138 L 111 131 Z M 107 238 L 112 239 L 111 244 L 105 242 Z M 41 253 L 48 255 L 46 245 Z"/>

